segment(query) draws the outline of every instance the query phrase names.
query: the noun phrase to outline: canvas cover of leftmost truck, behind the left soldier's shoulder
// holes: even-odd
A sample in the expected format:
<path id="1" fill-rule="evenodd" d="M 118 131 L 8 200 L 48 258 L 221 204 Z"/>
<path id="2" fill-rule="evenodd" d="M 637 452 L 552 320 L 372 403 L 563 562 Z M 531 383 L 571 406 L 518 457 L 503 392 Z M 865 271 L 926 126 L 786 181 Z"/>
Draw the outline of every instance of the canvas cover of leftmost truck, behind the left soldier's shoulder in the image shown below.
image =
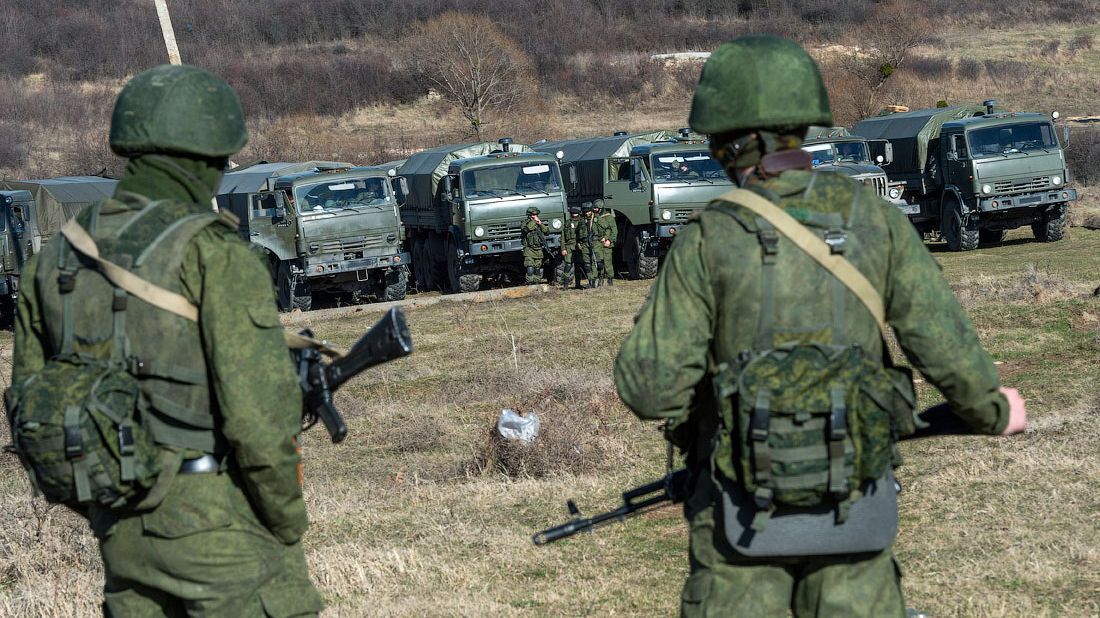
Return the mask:
<path id="1" fill-rule="evenodd" d="M 64 176 L 42 180 L 0 180 L 0 188 L 30 191 L 34 198 L 38 233 L 50 238 L 84 207 L 114 194 L 119 181 L 101 176 Z"/>

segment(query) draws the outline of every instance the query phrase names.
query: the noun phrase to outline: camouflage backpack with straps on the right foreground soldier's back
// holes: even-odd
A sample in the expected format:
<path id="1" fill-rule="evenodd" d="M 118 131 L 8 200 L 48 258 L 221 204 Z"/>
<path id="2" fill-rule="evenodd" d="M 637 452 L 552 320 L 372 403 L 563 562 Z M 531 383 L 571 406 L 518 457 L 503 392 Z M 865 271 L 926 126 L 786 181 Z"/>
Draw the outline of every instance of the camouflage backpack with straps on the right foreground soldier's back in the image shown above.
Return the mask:
<path id="1" fill-rule="evenodd" d="M 727 479 L 736 481 L 744 499 L 734 499 L 733 504 L 751 506 L 751 521 L 741 522 L 738 530 L 763 532 L 777 512 L 799 510 L 828 512 L 829 526 L 843 525 L 869 486 L 881 483 L 892 464 L 899 462 L 894 446 L 898 437 L 915 429 L 911 374 L 883 363 L 877 354 L 846 341 L 838 332 L 843 329 L 837 316 L 846 310 L 844 290 L 855 294 L 886 332 L 881 297 L 843 256 L 847 236 L 843 220 L 811 230 L 751 191 L 735 190 L 722 199 L 756 214 L 763 298 L 752 349 L 715 367 L 719 429 L 713 465 Z M 857 202 L 858 191 L 851 212 Z M 712 208 L 736 212 L 722 205 Z M 784 261 L 800 254 L 780 251 L 780 233 L 825 267 L 828 276 L 824 279 L 817 268 L 803 272 L 806 282 L 822 282 L 825 290 L 801 285 L 805 282 L 787 285 L 776 280 L 780 267 L 784 273 L 795 269 L 793 263 Z M 785 287 L 782 297 L 777 298 L 781 285 Z M 820 316 L 821 320 L 827 320 L 828 312 L 823 309 L 829 307 L 832 340 L 821 341 L 823 338 L 813 333 L 784 333 L 788 341 L 777 342 L 781 338 L 776 336 L 774 312 L 780 301 L 787 311 L 794 308 Z M 892 478 L 889 484 L 892 492 Z M 893 515 L 893 528 L 883 529 L 881 534 L 886 544 L 897 531 L 897 501 L 891 499 L 882 503 L 882 508 Z M 726 515 L 728 522 L 732 516 Z M 887 528 L 891 526 L 889 517 L 880 519 Z M 730 542 L 737 547 L 735 539 L 730 538 Z M 794 544 L 791 555 L 803 551 L 798 542 Z"/>

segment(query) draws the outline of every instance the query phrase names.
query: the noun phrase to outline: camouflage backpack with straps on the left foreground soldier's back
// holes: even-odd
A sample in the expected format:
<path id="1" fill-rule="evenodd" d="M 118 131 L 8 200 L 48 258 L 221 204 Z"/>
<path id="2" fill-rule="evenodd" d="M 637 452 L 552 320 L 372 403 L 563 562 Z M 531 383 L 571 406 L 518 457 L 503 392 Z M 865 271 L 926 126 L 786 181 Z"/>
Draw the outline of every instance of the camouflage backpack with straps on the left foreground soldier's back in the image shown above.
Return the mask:
<path id="1" fill-rule="evenodd" d="M 92 213 L 92 221 L 97 213 Z M 198 217 L 200 225 L 217 218 L 212 213 Z M 175 232 L 169 228 L 150 249 Z M 65 243 L 59 249 L 64 266 L 57 277 L 63 302 L 62 350 L 6 394 L 13 446 L 35 492 L 51 503 L 81 512 L 91 505 L 148 508 L 155 506 L 151 503 L 158 493 L 151 489 L 162 472 L 170 477 L 175 471 L 162 471 L 162 448 L 150 427 L 151 406 L 138 378 L 141 367 L 131 366 L 135 360 L 129 353 L 127 306 L 138 297 L 190 320 L 197 319 L 197 310 L 186 298 L 101 258 L 95 240 L 76 219 L 62 234 L 64 238 L 55 241 Z M 76 351 L 73 291 L 80 269 L 102 276 L 113 291 L 113 301 L 109 305 L 110 339 L 91 345 L 85 342 Z"/>

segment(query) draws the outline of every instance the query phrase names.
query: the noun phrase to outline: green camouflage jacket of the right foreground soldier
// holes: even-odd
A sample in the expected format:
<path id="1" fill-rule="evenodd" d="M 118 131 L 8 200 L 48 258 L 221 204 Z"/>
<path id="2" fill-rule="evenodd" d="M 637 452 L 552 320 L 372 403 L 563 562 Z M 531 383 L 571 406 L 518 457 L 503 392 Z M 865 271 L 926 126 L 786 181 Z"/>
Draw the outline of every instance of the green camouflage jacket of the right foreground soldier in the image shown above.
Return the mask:
<path id="1" fill-rule="evenodd" d="M 905 356 L 975 431 L 999 433 L 1008 401 L 966 312 L 909 220 L 873 191 L 839 174 L 784 172 L 757 186 L 795 218 L 837 213 L 847 219 L 854 190 L 862 191 L 845 256 L 878 288 Z M 684 225 L 649 299 L 615 362 L 619 396 L 636 415 L 684 423 L 696 456 L 708 453 L 717 429 L 708 372 L 754 346 L 761 299 L 761 245 L 756 218 L 704 210 Z M 780 251 L 799 251 L 780 238 Z M 813 266 L 810 257 L 806 267 Z M 828 276 L 824 271 L 823 277 Z M 858 304 L 849 294 L 849 306 Z M 774 323 L 789 331 L 815 317 L 785 316 L 777 299 Z M 881 354 L 879 330 L 867 311 L 844 312 L 853 343 Z M 802 322 L 802 323 L 800 323 Z M 695 460 L 698 461 L 698 460 Z"/>

